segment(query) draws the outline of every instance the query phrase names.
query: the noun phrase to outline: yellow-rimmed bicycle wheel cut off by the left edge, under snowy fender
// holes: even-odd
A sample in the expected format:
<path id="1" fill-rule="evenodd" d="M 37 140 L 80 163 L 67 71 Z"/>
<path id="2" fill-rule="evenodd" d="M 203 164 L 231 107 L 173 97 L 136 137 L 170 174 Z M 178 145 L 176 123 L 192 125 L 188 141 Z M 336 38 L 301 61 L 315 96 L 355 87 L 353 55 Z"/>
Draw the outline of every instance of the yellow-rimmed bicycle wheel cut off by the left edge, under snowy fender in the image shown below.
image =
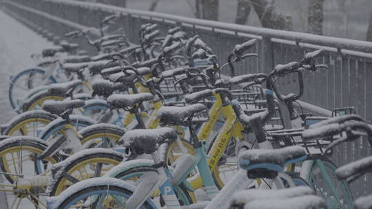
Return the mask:
<path id="1" fill-rule="evenodd" d="M 43 173 L 52 164 L 59 161 L 59 155 L 52 155 L 43 161 L 45 166 L 38 166 L 45 170 L 35 170 L 36 164 L 41 163 L 35 160 L 37 155 L 43 153 L 48 144 L 36 137 L 10 137 L 0 142 L 0 168 L 10 183 L 19 179 L 20 175 L 31 177 Z"/>

